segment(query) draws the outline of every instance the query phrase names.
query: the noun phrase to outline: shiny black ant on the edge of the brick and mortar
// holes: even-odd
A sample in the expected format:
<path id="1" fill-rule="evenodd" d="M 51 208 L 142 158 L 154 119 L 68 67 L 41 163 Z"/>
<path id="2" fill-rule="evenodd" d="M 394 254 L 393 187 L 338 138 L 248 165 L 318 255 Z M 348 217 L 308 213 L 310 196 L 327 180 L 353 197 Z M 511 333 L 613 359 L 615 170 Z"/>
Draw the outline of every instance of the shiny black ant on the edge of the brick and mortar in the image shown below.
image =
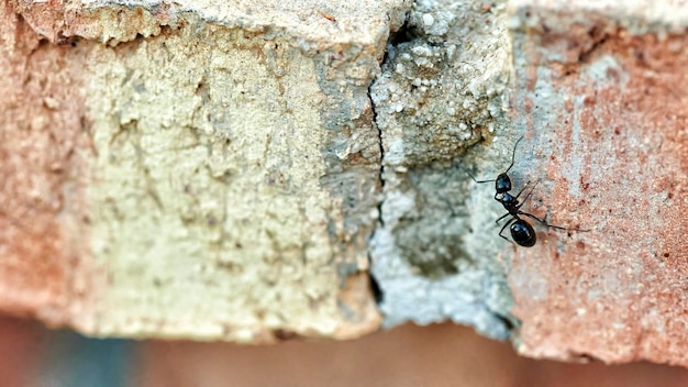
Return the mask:
<path id="1" fill-rule="evenodd" d="M 511 225 L 510 231 L 511 231 L 511 237 L 513 239 L 513 242 L 515 242 L 518 245 L 523 246 L 523 247 L 532 247 L 533 245 L 535 245 L 535 242 L 537 241 L 537 236 L 535 236 L 535 230 L 533 230 L 533 226 L 529 222 L 521 219 L 521 217 L 519 215 L 531 218 L 537 221 L 539 223 L 542 223 L 545 226 L 551 228 L 551 229 L 565 230 L 565 231 L 582 231 L 582 232 L 590 231 L 590 230 L 580 230 L 580 229 L 566 229 L 563 226 L 548 224 L 547 221 L 545 221 L 544 219 L 540 219 L 532 213 L 521 211 L 521 207 L 523 206 L 523 203 L 525 203 L 528 198 L 531 197 L 531 194 L 533 194 L 533 189 L 535 189 L 535 186 L 537 186 L 537 183 L 540 183 L 540 180 L 537 180 L 531 187 L 528 195 L 525 195 L 525 198 L 523 199 L 523 201 L 519 201 L 519 197 L 521 197 L 521 194 L 523 194 L 523 190 L 525 189 L 525 187 L 530 185 L 530 180 L 525 184 L 525 186 L 523 186 L 523 188 L 521 188 L 521 190 L 515 197 L 509 194 L 509 191 L 511 190 L 511 178 L 507 174 L 513 166 L 513 162 L 515 159 L 515 150 L 517 150 L 517 146 L 519 146 L 519 143 L 521 142 L 521 140 L 523 140 L 523 136 L 521 136 L 513 145 L 513 152 L 511 154 L 511 164 L 509 165 L 509 168 L 507 168 L 506 172 L 499 174 L 499 176 L 497 176 L 496 179 L 476 180 L 476 178 L 473 177 L 473 175 L 466 172 L 466 174 L 468 174 L 468 176 L 470 176 L 470 178 L 475 183 L 480 184 L 480 183 L 495 181 L 495 190 L 497 190 L 497 192 L 495 194 L 495 200 L 499 201 L 504 207 L 504 210 L 508 211 L 503 215 L 499 217 L 499 219 L 497 219 L 495 223 L 499 223 L 500 220 L 511 215 L 511 219 L 501 228 L 501 230 L 499 230 L 499 236 L 509 241 L 507 236 L 502 235 L 502 232 L 508 225 Z"/>

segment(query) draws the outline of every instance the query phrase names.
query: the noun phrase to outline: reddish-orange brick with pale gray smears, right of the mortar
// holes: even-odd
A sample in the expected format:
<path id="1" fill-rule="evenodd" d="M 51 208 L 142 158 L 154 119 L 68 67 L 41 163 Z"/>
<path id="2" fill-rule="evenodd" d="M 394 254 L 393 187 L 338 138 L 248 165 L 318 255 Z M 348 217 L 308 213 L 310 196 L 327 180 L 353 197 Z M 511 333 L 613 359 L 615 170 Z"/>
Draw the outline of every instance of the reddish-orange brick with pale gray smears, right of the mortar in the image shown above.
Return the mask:
<path id="1" fill-rule="evenodd" d="M 657 9 L 517 10 L 514 123 L 534 157 L 514 173 L 542 178 L 536 214 L 592 230 L 508 258 L 522 354 L 688 366 L 688 41 L 667 34 L 687 11 Z"/>

